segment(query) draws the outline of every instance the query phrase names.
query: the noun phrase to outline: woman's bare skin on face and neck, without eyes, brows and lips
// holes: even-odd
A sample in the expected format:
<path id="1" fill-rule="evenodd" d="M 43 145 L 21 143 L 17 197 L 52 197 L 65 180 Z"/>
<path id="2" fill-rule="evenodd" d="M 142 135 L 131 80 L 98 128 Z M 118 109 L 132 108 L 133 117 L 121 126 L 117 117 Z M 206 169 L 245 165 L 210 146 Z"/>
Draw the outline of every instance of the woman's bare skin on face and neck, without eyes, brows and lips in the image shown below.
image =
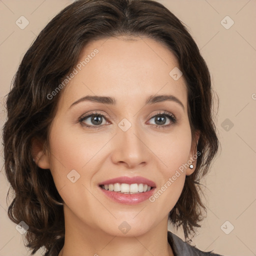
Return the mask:
<path id="1" fill-rule="evenodd" d="M 186 168 L 154 202 L 120 204 L 98 187 L 109 178 L 139 175 L 153 180 L 158 190 L 196 153 L 185 80 L 169 75 L 178 66 L 175 56 L 150 38 L 133 39 L 101 39 L 83 48 L 79 61 L 94 48 L 99 52 L 62 89 L 47 150 L 39 143 L 33 146 L 38 166 L 50 169 L 64 200 L 65 243 L 59 256 L 173 255 L 166 235 L 168 212 L 185 175 L 194 168 Z M 145 105 L 146 98 L 155 94 L 174 95 L 184 109 L 170 100 Z M 70 107 L 85 95 L 111 96 L 116 103 L 81 101 Z M 106 116 L 100 128 L 82 126 L 79 118 L 94 110 Z M 166 117 L 161 124 L 166 126 L 156 127 L 153 116 L 159 111 L 173 114 L 176 123 Z M 118 127 L 123 118 L 131 123 L 127 131 Z M 93 125 L 90 117 L 83 123 Z M 67 178 L 72 169 L 80 175 L 74 183 Z M 126 234 L 118 228 L 123 221 L 130 225 Z"/>

